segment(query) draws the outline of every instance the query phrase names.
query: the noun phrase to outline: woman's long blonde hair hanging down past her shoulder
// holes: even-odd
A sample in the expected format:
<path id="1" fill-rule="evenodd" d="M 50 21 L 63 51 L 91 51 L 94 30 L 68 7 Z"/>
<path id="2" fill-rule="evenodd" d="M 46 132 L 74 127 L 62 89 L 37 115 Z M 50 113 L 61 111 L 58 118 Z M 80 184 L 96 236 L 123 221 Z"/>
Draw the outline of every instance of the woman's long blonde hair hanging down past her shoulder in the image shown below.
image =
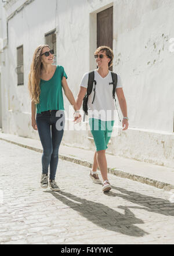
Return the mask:
<path id="1" fill-rule="evenodd" d="M 35 104 L 39 103 L 39 95 L 41 93 L 41 89 L 39 87 L 41 81 L 41 69 L 43 65 L 41 61 L 41 53 L 44 47 L 49 47 L 49 45 L 39 45 L 38 48 L 35 49 L 32 58 L 30 73 L 28 76 L 28 90 L 30 93 L 31 101 Z"/>

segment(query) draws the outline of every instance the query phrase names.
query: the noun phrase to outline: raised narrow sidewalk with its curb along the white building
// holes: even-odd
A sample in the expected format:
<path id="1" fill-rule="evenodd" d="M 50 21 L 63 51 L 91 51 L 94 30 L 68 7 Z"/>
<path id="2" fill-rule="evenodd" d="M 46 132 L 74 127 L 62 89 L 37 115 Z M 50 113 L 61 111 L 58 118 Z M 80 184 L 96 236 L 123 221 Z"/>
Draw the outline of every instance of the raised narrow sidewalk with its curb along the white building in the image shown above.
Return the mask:
<path id="1" fill-rule="evenodd" d="M 0 132 L 0 141 L 6 140 L 11 143 L 26 147 L 34 151 L 42 152 L 39 140 L 24 138 L 12 134 Z M 61 159 L 92 167 L 93 152 L 74 147 L 60 146 L 59 157 Z M 135 161 L 128 158 L 115 157 L 107 154 L 108 172 L 119 177 L 136 180 L 137 182 L 158 187 L 164 190 L 174 189 L 174 168 L 153 165 L 150 163 Z M 174 166 L 174 163 L 173 163 Z"/>

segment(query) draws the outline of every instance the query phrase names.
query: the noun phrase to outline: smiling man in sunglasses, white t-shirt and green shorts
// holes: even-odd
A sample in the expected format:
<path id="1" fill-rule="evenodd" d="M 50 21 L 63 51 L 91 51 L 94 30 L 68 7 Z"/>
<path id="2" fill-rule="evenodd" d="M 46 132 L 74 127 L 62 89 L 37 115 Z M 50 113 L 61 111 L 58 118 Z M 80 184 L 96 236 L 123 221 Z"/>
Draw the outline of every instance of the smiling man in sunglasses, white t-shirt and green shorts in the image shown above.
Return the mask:
<path id="1" fill-rule="evenodd" d="M 88 98 L 88 116 L 89 125 L 92 132 L 96 152 L 93 158 L 93 168 L 90 172 L 90 177 L 94 183 L 102 183 L 97 175 L 97 167 L 99 165 L 100 172 L 103 178 L 103 192 L 111 190 L 111 185 L 107 177 L 107 161 L 106 161 L 106 148 L 108 141 L 111 137 L 111 132 L 115 120 L 115 103 L 113 98 L 113 82 L 109 67 L 113 65 L 114 54 L 109 47 L 99 47 L 95 51 L 95 58 L 98 68 L 95 72 L 95 91 Z M 78 109 L 81 108 L 83 98 L 88 88 L 89 73 L 85 73 L 77 97 Z M 127 106 L 124 92 L 122 90 L 121 79 L 117 75 L 116 93 L 124 118 L 122 119 L 122 127 L 128 129 L 128 115 Z M 93 85 L 94 87 L 94 85 Z M 94 98 L 95 96 L 95 98 Z M 109 114 L 109 115 L 108 115 Z"/>

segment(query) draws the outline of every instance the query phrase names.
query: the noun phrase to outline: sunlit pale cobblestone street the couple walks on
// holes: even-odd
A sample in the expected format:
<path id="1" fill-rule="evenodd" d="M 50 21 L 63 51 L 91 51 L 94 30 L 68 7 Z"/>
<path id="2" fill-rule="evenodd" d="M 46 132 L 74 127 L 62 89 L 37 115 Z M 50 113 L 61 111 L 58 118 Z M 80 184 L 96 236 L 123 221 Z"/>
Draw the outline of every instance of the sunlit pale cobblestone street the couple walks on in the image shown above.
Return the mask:
<path id="1" fill-rule="evenodd" d="M 43 190 L 41 153 L 0 140 L 0 244 L 173 244 L 169 191 L 59 160 L 60 192 Z"/>

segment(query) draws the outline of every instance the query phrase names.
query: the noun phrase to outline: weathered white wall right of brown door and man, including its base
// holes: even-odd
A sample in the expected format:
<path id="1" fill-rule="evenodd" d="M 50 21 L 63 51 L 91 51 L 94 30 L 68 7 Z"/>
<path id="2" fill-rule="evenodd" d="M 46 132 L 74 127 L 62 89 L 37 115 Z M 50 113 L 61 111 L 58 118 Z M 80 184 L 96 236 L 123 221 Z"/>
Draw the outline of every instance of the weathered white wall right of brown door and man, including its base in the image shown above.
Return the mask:
<path id="1" fill-rule="evenodd" d="M 111 152 L 166 166 L 174 166 L 173 11 L 171 0 L 114 5 L 114 70 L 122 77 L 131 129 L 113 139 Z"/>

